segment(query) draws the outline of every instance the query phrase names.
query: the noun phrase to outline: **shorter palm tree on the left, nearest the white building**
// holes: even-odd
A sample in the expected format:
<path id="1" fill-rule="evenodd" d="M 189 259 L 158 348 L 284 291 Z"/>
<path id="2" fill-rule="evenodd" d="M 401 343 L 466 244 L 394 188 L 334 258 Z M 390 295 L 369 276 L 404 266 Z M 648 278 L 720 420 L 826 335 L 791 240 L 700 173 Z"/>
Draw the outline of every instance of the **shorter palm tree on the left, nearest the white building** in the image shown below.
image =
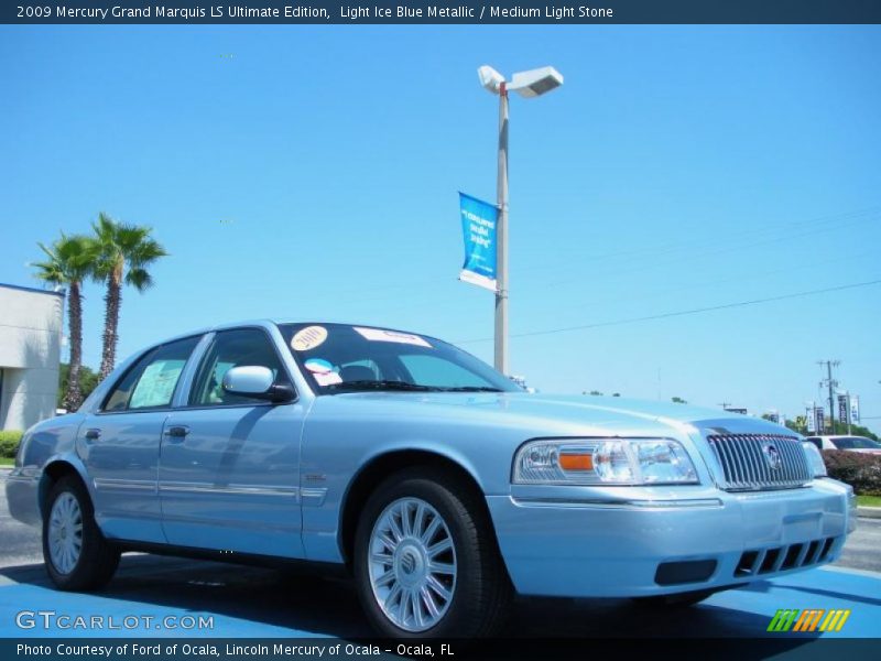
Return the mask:
<path id="1" fill-rule="evenodd" d="M 31 264 L 37 269 L 36 277 L 55 285 L 66 285 L 67 324 L 70 329 L 70 367 L 67 377 L 67 390 L 64 394 L 64 408 L 76 411 L 83 403 L 79 386 L 83 366 L 83 281 L 93 274 L 96 258 L 95 242 L 85 236 L 66 236 L 51 247 L 37 243 L 46 253 L 46 261 Z"/>

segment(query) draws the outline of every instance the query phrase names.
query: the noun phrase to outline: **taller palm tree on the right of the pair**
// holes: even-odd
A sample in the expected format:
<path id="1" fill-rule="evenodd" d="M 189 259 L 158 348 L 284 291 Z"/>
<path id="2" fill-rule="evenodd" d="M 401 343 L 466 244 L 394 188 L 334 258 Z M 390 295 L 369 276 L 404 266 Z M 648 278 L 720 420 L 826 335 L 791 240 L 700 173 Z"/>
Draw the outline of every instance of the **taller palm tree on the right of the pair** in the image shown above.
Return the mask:
<path id="1" fill-rule="evenodd" d="M 94 277 L 107 283 L 100 368 L 104 379 L 113 371 L 116 364 L 123 283 L 139 292 L 152 286 L 153 278 L 146 269 L 167 252 L 151 238 L 150 227 L 117 223 L 106 214 L 99 214 L 98 223 L 91 227 L 99 252 Z"/>

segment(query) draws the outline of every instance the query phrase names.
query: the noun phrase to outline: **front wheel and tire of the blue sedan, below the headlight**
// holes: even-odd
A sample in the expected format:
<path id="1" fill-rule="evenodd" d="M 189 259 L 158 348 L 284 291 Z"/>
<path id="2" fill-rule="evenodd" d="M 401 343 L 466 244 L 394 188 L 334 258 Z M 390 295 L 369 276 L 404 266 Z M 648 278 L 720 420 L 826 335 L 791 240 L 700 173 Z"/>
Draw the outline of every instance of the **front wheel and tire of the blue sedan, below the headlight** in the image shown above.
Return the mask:
<path id="1" fill-rule="evenodd" d="M 479 498 L 433 468 L 398 473 L 370 496 L 354 570 L 382 636 L 481 638 L 501 629 L 513 588 Z"/>

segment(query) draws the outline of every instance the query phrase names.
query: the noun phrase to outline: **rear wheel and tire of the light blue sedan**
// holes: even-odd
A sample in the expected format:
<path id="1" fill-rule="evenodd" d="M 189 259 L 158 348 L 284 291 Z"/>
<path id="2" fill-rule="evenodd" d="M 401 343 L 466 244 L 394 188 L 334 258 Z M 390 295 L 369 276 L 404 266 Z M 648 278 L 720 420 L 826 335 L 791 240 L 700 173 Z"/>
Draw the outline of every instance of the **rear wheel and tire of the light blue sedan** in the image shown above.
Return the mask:
<path id="1" fill-rule="evenodd" d="M 50 490 L 43 561 L 48 577 L 64 590 L 97 589 L 117 571 L 119 551 L 98 529 L 91 499 L 76 477 L 63 477 Z"/>

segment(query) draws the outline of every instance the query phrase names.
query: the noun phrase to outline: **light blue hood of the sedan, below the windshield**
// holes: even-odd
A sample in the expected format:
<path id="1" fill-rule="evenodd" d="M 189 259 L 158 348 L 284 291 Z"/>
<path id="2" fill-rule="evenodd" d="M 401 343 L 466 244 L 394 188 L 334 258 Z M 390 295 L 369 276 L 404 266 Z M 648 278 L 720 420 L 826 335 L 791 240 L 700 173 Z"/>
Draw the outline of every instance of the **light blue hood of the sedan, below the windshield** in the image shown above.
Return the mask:
<path id="1" fill-rule="evenodd" d="M 320 398 L 326 399 L 326 398 Z M 705 427 L 717 432 L 781 433 L 761 419 L 715 409 L 610 397 L 526 392 L 358 392 L 331 399 L 359 402 L 395 416 L 443 416 L 480 420 L 532 429 L 541 434 L 633 434 Z M 790 432 L 792 433 L 792 432 Z"/>

